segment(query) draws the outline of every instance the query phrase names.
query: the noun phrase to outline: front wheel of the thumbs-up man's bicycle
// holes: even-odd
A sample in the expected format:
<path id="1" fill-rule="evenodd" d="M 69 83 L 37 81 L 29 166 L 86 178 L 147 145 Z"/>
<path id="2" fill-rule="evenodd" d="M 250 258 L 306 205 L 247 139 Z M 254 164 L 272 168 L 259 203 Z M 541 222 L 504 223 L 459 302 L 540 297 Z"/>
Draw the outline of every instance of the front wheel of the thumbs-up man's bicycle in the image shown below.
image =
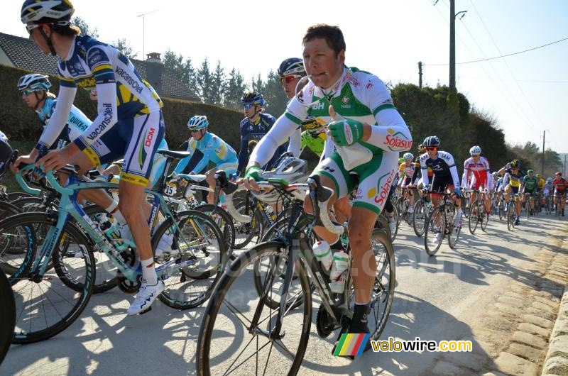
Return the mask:
<path id="1" fill-rule="evenodd" d="M 236 356 L 236 360 L 239 360 L 240 355 L 244 353 L 245 350 L 253 351 L 253 355 L 248 358 L 246 358 L 248 353 L 244 355 L 244 358 L 241 359 L 243 360 L 242 363 L 236 360 L 233 361 L 233 363 L 238 363 L 236 366 L 244 365 L 247 360 L 252 363 L 244 365 L 245 369 L 241 370 L 240 373 L 245 373 L 246 375 L 253 373 L 258 374 L 259 372 L 263 375 L 297 374 L 304 358 L 307 341 L 310 339 L 312 321 L 312 294 L 310 293 L 309 282 L 303 262 L 301 262 L 300 259 L 298 259 L 299 262 L 297 262 L 297 277 L 300 281 L 300 287 L 302 288 L 300 294 L 304 302 L 304 304 L 302 304 L 302 312 L 298 310 L 286 310 L 286 316 L 283 318 L 285 336 L 280 336 L 280 333 L 282 333 L 280 332 L 275 334 L 273 340 L 268 340 L 268 334 L 271 333 L 271 328 L 273 328 L 274 324 L 273 321 L 275 321 L 273 315 L 278 314 L 280 309 L 268 309 L 261 302 L 261 297 L 255 299 L 251 294 L 247 294 L 246 299 L 243 299 L 241 286 L 234 283 L 237 277 L 239 277 L 239 283 L 246 285 L 246 281 L 251 277 L 251 275 L 249 275 L 251 267 L 259 258 L 276 255 L 283 261 L 287 260 L 288 255 L 281 249 L 285 249 L 285 243 L 259 243 L 255 247 L 241 253 L 239 258 L 236 258 L 231 262 L 229 267 L 227 267 L 226 272 L 222 275 L 214 289 L 215 299 L 209 300 L 207 309 L 204 311 L 200 335 L 197 340 L 197 375 L 209 376 L 229 373 L 229 370 L 223 371 L 219 370 L 219 368 L 232 367 L 234 365 L 230 363 L 236 356 L 236 350 L 241 350 L 243 343 L 248 341 L 249 338 L 246 338 L 248 334 L 251 335 L 249 344 L 256 346 L 257 351 L 255 351 L 254 348 L 248 349 L 249 346 L 245 345 L 244 349 Z M 239 294 L 231 293 L 231 288 L 234 286 Z M 256 292 L 256 290 L 252 291 Z M 290 299 L 293 299 L 293 297 Z M 251 308 L 249 308 L 249 304 Z M 254 306 L 258 304 L 261 304 L 261 306 L 254 308 Z M 226 316 L 235 311 L 239 311 L 241 305 L 244 306 L 243 310 L 246 314 L 254 314 L 257 308 L 268 309 L 268 317 L 263 319 L 259 325 L 253 325 L 248 322 L 248 319 L 242 312 L 239 312 L 247 320 L 247 323 L 244 325 L 244 328 L 236 328 L 234 341 L 229 340 L 229 342 L 227 342 L 226 338 L 229 336 L 231 324 L 233 326 L 239 324 L 242 316 L 235 314 L 234 318 L 229 317 L 229 319 L 226 319 Z M 226 309 L 226 307 L 229 308 Z M 266 311 L 263 316 L 266 316 Z M 218 329 L 215 328 L 216 323 L 219 325 Z M 254 327 L 249 330 L 248 326 Z M 297 331 L 300 333 L 296 334 Z M 219 345 L 219 342 L 222 344 Z M 226 347 L 226 343 L 230 343 L 229 348 Z M 297 343 L 297 345 L 293 345 L 293 343 Z M 262 349 L 268 345 L 270 348 L 263 353 L 258 350 L 258 348 Z M 258 359 L 266 355 L 268 355 L 268 358 L 274 355 L 276 359 L 272 361 L 267 359 L 266 362 Z M 289 366 L 288 363 L 285 363 L 287 360 L 290 360 L 289 363 L 291 364 Z M 256 372 L 254 372 L 255 366 Z M 251 369 L 251 367 L 253 367 L 253 369 Z M 259 367 L 260 370 L 258 369 Z"/>

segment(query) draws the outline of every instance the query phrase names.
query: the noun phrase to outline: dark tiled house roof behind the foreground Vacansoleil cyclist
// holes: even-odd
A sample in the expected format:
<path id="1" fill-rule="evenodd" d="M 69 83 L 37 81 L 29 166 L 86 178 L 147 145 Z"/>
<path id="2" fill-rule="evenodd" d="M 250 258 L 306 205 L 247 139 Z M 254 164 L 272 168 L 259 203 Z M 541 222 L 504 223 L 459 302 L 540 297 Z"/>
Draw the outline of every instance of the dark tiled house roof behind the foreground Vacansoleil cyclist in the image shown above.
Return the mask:
<path id="1" fill-rule="evenodd" d="M 58 57 L 45 55 L 29 39 L 0 33 L 0 48 L 4 50 L 14 67 L 43 74 L 56 75 L 58 73 Z M 146 79 L 155 91 L 158 92 L 158 95 L 168 98 L 201 101 L 199 96 L 192 93 L 187 85 L 163 64 L 136 59 L 131 59 L 131 62 L 142 78 Z"/>

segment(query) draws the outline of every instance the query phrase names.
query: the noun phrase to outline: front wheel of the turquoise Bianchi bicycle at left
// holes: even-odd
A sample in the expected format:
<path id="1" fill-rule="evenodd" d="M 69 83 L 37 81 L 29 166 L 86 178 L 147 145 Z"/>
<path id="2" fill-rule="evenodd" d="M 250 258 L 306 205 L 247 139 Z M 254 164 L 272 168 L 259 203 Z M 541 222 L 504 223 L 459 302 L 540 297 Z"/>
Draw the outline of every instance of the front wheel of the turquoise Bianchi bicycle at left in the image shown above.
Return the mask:
<path id="1" fill-rule="evenodd" d="M 29 229 L 34 225 L 50 229 L 56 221 L 55 216 L 47 216 L 45 213 L 23 213 L 3 221 L 1 231 L 15 233 L 18 228 Z M 62 257 L 62 250 L 59 246 L 53 248 L 52 269 L 46 270 L 42 277 L 38 277 L 35 270 L 30 270 L 33 255 L 45 243 L 45 238 L 36 237 L 36 233 L 37 231 L 28 231 L 26 236 L 21 237 L 20 244 L 26 248 L 26 261 L 9 277 L 16 300 L 17 318 L 12 343 L 43 341 L 65 330 L 80 316 L 93 291 L 95 261 L 90 240 L 82 230 L 67 223 L 58 239 L 59 244 L 65 236 L 65 241 L 76 245 L 82 253 L 80 258 L 75 259 L 72 268 L 65 265 L 64 273 L 75 281 L 75 288 L 82 287 L 81 291 L 71 288 L 70 283 L 64 280 L 65 276 L 60 277 L 61 270 L 58 271 L 58 268 L 61 265 L 58 260 Z"/>

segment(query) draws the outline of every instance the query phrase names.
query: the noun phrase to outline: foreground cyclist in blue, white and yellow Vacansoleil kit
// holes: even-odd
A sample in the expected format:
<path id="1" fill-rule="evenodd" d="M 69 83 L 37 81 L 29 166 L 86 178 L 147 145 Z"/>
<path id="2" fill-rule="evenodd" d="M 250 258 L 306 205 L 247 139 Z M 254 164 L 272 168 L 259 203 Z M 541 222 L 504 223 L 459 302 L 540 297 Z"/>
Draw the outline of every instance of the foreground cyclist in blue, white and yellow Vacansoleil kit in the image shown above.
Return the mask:
<path id="1" fill-rule="evenodd" d="M 74 11 L 69 0 L 26 0 L 21 9 L 21 21 L 35 45 L 45 53 L 59 56 L 58 106 L 51 116 L 48 132 L 40 138 L 40 152 L 52 145 L 65 127 L 77 87 L 86 89 L 92 99 L 97 99 L 98 114 L 92 124 L 65 148 L 51 150 L 41 157 L 38 165 L 43 163 L 45 170 L 58 170 L 70 162 L 84 171 L 124 157 L 120 211 L 113 216 L 126 219 L 140 253 L 142 283 L 128 309 L 128 314 L 138 314 L 149 309 L 164 289 L 155 273 L 150 229 L 142 210 L 155 150 L 165 130 L 163 104 L 128 57 L 111 45 L 80 35 L 79 28 L 70 25 Z M 109 138 L 104 142 L 110 152 L 99 155 L 92 145 L 107 133 Z M 89 201 L 111 213 L 116 209 L 116 201 L 102 190 L 92 189 L 89 194 L 93 196 Z"/>

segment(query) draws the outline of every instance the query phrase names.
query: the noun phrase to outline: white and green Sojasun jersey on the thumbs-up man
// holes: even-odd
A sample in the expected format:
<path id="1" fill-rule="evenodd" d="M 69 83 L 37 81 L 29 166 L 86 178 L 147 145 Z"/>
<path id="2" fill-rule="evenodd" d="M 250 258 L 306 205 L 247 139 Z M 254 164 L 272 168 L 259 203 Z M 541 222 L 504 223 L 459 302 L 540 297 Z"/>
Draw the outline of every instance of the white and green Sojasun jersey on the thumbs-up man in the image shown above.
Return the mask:
<path id="1" fill-rule="evenodd" d="M 327 124 L 332 121 L 329 116 L 330 105 L 339 116 L 373 126 L 368 140 L 343 148 L 342 151 L 347 150 L 348 155 L 363 150 L 362 154 L 368 154 L 364 156 L 366 160 L 370 160 L 372 155 L 381 155 L 385 152 L 398 153 L 409 150 L 412 146 L 410 131 L 396 111 L 391 93 L 381 79 L 371 73 L 345 67 L 342 76 L 329 89 L 317 87 L 310 80 L 302 91 L 290 100 L 285 114 L 278 118 L 271 130 L 258 143 L 250 160 L 263 165 L 270 150 L 284 143 L 294 132 L 300 135 L 303 131 L 302 121 L 307 118 L 315 118 L 315 121 L 321 124 L 322 130 L 326 129 Z M 337 151 L 345 155 L 340 150 Z M 333 152 L 334 143 L 328 135 L 322 159 L 329 157 Z M 357 160 L 358 157 L 354 159 Z M 350 165 L 359 165 L 359 163 L 350 163 Z"/>

